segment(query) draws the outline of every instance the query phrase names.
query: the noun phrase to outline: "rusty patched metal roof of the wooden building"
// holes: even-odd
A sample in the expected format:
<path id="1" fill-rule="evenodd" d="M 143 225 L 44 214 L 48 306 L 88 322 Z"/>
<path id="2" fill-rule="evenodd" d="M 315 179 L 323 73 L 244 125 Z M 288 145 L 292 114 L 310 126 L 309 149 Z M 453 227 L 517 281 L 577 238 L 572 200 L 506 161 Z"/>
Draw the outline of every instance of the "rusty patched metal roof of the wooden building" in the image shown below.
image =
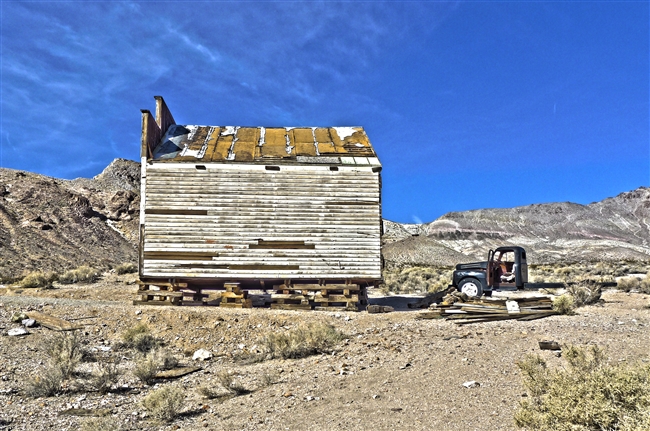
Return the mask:
<path id="1" fill-rule="evenodd" d="M 155 161 L 381 166 L 362 127 L 169 127 Z"/>

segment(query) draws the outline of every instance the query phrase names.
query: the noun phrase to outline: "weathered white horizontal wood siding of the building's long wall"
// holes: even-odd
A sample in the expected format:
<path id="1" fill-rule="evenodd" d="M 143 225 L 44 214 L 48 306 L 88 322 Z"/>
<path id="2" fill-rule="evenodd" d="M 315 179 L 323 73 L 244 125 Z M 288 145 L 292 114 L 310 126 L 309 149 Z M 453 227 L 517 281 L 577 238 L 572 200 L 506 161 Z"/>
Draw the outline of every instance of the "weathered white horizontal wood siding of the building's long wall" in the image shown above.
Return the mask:
<path id="1" fill-rule="evenodd" d="M 370 166 L 154 162 L 145 176 L 145 277 L 381 278 Z"/>

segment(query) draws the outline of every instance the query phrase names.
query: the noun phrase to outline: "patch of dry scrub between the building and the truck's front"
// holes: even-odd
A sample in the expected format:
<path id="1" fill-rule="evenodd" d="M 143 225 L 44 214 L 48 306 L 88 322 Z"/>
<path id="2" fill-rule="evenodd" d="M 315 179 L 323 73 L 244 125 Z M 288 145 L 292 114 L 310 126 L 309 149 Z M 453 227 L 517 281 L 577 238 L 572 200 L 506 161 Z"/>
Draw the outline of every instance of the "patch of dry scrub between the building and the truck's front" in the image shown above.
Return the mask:
<path id="1" fill-rule="evenodd" d="M 413 266 L 387 269 L 383 273 L 382 290 L 388 292 L 439 292 L 451 284 L 453 269 L 447 267 Z"/>

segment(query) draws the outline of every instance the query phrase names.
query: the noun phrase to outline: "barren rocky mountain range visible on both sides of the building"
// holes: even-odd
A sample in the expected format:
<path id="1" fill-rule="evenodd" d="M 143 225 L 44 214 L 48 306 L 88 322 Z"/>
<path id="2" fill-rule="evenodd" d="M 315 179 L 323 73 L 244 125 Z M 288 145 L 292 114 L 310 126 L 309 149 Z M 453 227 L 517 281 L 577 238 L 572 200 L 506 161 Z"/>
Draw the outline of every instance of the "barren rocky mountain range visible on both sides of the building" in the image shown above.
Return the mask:
<path id="1" fill-rule="evenodd" d="M 140 164 L 116 159 L 92 179 L 0 169 L 0 280 L 137 259 Z M 650 189 L 589 205 L 535 204 L 448 213 L 431 223 L 384 220 L 389 266 L 484 259 L 521 245 L 529 262 L 650 260 Z"/>

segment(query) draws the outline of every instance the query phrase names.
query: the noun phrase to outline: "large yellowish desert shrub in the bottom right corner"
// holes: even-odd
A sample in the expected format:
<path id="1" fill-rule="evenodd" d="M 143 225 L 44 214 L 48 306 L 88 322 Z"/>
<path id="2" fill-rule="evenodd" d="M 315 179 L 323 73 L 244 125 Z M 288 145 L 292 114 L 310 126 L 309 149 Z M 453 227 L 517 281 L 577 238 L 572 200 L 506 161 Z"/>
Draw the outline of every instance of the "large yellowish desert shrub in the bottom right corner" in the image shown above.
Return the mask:
<path id="1" fill-rule="evenodd" d="M 517 363 L 529 397 L 515 412 L 536 431 L 644 430 L 650 411 L 650 365 L 607 364 L 598 347 L 562 350 L 567 367 L 550 369 L 539 356 Z"/>

